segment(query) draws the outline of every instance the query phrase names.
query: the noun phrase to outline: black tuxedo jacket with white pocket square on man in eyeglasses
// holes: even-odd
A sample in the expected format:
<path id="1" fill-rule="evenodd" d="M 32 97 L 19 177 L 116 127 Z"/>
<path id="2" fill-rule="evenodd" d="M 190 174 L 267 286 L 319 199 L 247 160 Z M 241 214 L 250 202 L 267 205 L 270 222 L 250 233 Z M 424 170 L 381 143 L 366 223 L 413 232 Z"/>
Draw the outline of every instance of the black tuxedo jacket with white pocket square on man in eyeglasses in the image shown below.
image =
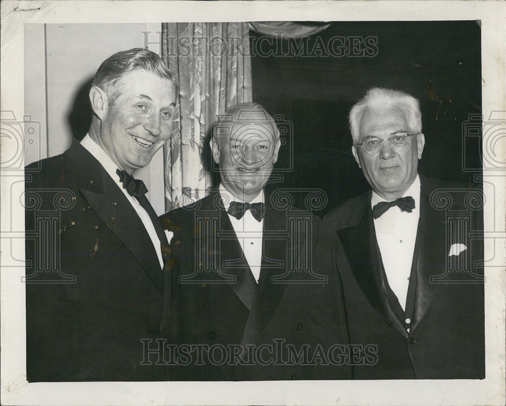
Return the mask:
<path id="1" fill-rule="evenodd" d="M 354 379 L 485 377 L 483 272 L 473 266 L 483 258 L 483 246 L 482 240 L 470 238 L 483 230 L 482 212 L 465 208 L 465 188 L 448 188 L 422 176 L 420 181 L 409 332 L 388 296 L 371 193 L 347 201 L 324 219 L 327 258 L 334 269 L 333 283 L 343 289 L 350 343 L 377 346 L 370 362 L 354 366 Z M 433 195 L 431 203 L 432 192 L 442 188 L 445 194 L 437 199 Z M 446 204 L 447 212 L 435 208 Z M 449 257 L 455 243 L 468 249 Z"/>

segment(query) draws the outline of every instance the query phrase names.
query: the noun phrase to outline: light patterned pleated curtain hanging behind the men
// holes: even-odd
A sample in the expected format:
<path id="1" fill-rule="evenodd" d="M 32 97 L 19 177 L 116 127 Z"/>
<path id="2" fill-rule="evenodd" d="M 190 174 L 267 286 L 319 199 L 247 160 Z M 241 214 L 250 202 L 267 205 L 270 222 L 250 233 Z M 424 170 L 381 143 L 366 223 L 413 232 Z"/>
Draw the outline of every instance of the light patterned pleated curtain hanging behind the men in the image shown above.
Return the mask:
<path id="1" fill-rule="evenodd" d="M 208 146 L 213 123 L 251 102 L 248 23 L 163 23 L 161 56 L 179 83 L 174 133 L 164 146 L 165 209 L 216 186 Z"/>

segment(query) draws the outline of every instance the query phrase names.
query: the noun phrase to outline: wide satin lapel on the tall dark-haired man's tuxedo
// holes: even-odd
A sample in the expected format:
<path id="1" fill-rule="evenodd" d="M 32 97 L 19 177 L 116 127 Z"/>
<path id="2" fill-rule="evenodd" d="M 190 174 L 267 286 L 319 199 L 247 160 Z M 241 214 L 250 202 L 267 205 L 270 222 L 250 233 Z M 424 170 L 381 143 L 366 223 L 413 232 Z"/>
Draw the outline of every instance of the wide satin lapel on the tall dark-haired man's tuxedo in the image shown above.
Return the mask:
<path id="1" fill-rule="evenodd" d="M 92 210 L 132 253 L 163 294 L 163 274 L 155 248 L 128 199 L 86 148 L 74 144 L 66 155 L 81 177 L 83 188 L 80 192 Z"/>

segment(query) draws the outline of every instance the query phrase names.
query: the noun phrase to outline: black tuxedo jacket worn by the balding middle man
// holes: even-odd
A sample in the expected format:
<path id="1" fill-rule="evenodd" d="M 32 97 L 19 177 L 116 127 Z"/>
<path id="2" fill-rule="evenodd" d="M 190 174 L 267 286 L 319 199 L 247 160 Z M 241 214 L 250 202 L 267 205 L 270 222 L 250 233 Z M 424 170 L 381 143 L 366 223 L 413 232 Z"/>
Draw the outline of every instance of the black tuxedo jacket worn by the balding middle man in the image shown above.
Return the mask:
<path id="1" fill-rule="evenodd" d="M 211 357 L 204 354 L 201 365 L 195 352 L 183 357 L 178 374 L 170 379 L 351 377 L 346 365 L 336 366 L 318 358 L 322 351 L 326 358 L 332 344 L 347 342 L 342 305 L 334 309 L 328 283 L 308 283 L 317 277 L 308 272 L 293 274 L 288 269 L 289 257 L 307 261 L 320 220 L 310 216 L 309 232 L 298 232 L 290 223 L 290 215 L 297 213 L 267 206 L 258 286 L 218 192 L 162 216 L 164 227 L 175 233 L 171 247 L 179 261 L 171 285 L 174 312 L 165 320 L 166 335 L 186 351 L 187 345 L 202 345 L 204 353 L 214 351 Z M 305 236 L 309 237 L 305 249 L 289 240 Z M 315 262 L 313 273 L 321 274 Z M 280 279 L 276 281 L 276 277 Z M 300 283 L 287 283 L 296 280 Z M 230 357 L 234 350 L 248 346 L 249 358 L 243 354 L 243 361 L 237 357 L 232 362 L 223 359 L 222 350 Z M 334 364 L 340 361 L 340 350 L 332 354 Z"/>

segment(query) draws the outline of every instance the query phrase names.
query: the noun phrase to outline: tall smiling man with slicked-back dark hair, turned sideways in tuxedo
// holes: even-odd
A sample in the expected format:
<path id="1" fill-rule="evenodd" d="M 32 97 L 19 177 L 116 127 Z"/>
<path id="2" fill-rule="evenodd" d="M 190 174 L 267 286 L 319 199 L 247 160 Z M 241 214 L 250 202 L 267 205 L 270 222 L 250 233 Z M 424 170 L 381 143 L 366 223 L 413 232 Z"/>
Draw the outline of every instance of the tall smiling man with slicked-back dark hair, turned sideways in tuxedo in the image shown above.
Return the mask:
<path id="1" fill-rule="evenodd" d="M 166 379 L 141 340 L 159 336 L 168 241 L 132 173 L 171 137 L 176 95 L 155 53 L 114 54 L 90 90 L 88 134 L 25 168 L 29 382 Z"/>

